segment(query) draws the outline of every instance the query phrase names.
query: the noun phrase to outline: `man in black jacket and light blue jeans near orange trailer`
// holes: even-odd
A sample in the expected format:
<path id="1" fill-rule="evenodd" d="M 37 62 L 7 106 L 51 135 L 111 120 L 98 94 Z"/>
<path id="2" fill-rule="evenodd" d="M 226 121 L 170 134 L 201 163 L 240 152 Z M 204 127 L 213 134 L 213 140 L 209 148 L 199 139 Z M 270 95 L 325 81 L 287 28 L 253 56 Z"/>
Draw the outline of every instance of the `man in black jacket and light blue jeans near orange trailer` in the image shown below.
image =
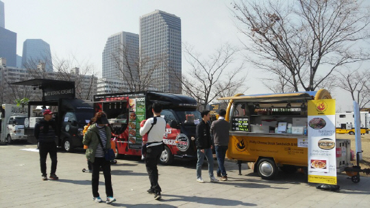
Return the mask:
<path id="1" fill-rule="evenodd" d="M 197 140 L 195 144 L 197 145 L 197 181 L 199 183 L 204 183 L 201 178 L 201 166 L 203 165 L 204 155 L 207 157 L 208 161 L 208 174 L 210 175 L 210 182 L 219 182 L 219 180 L 214 178 L 213 175 L 213 155 L 212 155 L 212 140 L 210 137 L 210 125 L 208 125 L 208 120 L 210 120 L 210 111 L 205 110 L 201 112 L 201 122 L 197 125 Z"/>

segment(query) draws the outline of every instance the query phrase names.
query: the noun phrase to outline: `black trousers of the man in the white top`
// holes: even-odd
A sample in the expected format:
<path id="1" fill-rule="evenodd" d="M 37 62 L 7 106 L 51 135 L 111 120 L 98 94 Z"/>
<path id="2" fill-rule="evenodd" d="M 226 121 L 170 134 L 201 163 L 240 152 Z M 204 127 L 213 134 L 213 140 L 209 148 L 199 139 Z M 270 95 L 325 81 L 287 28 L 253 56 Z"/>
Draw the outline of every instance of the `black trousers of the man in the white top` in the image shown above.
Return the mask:
<path id="1" fill-rule="evenodd" d="M 158 159 L 163 151 L 163 144 L 156 146 L 147 146 L 147 155 L 145 156 L 145 166 L 149 175 L 150 189 L 154 193 L 162 192 L 158 183 Z"/>

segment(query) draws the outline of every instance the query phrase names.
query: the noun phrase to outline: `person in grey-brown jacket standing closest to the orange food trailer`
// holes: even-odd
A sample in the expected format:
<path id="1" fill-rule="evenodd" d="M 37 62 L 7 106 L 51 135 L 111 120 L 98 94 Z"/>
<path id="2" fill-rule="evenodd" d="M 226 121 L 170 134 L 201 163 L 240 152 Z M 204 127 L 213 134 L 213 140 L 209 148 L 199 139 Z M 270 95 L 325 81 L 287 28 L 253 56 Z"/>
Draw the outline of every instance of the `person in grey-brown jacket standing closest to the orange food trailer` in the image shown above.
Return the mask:
<path id="1" fill-rule="evenodd" d="M 221 181 L 227 181 L 227 174 L 224 163 L 230 136 L 229 122 L 225 120 L 225 115 L 225 109 L 220 109 L 219 119 L 212 122 L 211 125 L 211 135 L 213 135 L 214 151 L 216 151 L 217 161 L 219 162 L 217 177 L 221 177 Z"/>

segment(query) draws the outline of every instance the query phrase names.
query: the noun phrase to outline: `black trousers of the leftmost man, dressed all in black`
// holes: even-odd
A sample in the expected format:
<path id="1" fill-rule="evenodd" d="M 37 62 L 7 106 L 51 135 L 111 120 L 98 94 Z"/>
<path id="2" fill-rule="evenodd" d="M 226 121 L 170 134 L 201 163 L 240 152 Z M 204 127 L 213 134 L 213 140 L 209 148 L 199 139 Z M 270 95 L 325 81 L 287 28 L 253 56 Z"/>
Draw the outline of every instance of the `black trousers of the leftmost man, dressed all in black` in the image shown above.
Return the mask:
<path id="1" fill-rule="evenodd" d="M 40 168 L 42 175 L 47 174 L 46 168 L 47 153 L 49 153 L 51 159 L 50 174 L 55 174 L 56 166 L 58 164 L 56 142 L 40 142 L 38 147 L 38 153 L 40 154 Z"/>

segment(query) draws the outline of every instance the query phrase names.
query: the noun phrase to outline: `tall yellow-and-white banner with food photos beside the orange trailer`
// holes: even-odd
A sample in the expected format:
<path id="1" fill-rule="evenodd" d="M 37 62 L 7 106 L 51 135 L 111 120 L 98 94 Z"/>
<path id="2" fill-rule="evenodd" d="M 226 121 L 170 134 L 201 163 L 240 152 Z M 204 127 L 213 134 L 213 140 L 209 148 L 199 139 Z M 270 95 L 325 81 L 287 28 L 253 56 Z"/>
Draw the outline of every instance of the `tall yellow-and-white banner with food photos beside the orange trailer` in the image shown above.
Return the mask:
<path id="1" fill-rule="evenodd" d="M 336 185 L 335 100 L 308 101 L 308 182 Z"/>

